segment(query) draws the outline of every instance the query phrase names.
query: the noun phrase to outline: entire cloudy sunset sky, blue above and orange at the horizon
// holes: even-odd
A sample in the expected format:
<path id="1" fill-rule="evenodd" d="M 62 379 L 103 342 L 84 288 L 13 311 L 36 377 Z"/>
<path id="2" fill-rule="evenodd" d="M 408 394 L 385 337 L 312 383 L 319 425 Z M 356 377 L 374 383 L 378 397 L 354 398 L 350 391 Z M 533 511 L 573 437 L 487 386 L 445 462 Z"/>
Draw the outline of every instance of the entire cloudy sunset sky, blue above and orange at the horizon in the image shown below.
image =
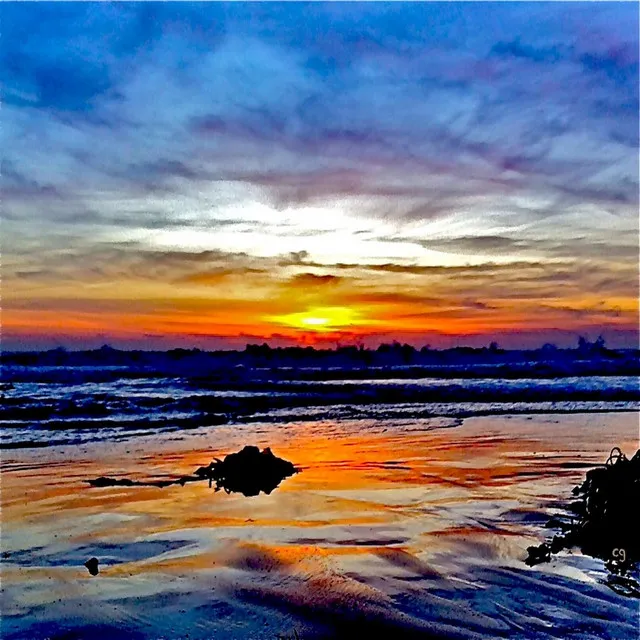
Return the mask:
<path id="1" fill-rule="evenodd" d="M 0 16 L 3 349 L 637 344 L 637 3 Z"/>

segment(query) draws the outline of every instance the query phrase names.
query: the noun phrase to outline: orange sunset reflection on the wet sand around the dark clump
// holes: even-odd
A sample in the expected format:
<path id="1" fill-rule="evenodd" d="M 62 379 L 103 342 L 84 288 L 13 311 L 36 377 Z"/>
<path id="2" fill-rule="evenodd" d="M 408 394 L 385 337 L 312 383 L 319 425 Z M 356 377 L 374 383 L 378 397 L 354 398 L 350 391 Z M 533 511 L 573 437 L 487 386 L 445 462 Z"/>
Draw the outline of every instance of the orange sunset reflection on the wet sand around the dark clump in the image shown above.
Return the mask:
<path id="1" fill-rule="evenodd" d="M 570 430 L 558 431 L 545 417 L 484 418 L 447 429 L 432 429 L 428 421 L 390 428 L 309 423 L 267 432 L 221 427 L 209 438 L 215 440 L 212 446 L 194 447 L 189 439 L 140 439 L 102 447 L 100 458 L 85 450 L 74 458 L 59 453 L 54 460 L 44 452 L 39 463 L 27 466 L 20 458 L 33 452 L 12 452 L 3 461 L 3 535 L 10 544 L 33 547 L 52 539 L 63 546 L 90 546 L 96 539 L 167 536 L 196 545 L 195 551 L 153 562 L 106 567 L 114 576 L 151 566 L 174 572 L 268 564 L 268 558 L 285 570 L 310 555 L 326 560 L 387 548 L 413 557 L 461 538 L 479 539 L 488 530 L 478 514 L 488 513 L 491 505 L 526 506 L 536 492 L 570 491 L 584 474 L 566 466 L 577 455 L 585 464 L 602 462 L 608 446 L 602 436 L 589 425 L 583 433 L 578 418 L 563 420 Z M 610 415 L 607 421 L 613 425 L 608 437 L 631 450 L 630 418 Z M 302 472 L 271 495 L 254 498 L 215 492 L 207 482 L 163 489 L 92 488 L 85 482 L 100 475 L 179 477 L 248 441 L 261 446 L 268 441 Z"/>

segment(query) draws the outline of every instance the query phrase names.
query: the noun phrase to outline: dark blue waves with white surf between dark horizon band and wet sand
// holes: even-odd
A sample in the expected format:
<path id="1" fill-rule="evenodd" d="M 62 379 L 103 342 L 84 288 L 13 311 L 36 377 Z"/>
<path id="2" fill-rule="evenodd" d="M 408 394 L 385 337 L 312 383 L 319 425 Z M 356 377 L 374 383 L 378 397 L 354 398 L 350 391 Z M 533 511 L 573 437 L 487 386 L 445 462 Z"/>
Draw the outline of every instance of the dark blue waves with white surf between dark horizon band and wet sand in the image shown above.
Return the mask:
<path id="1" fill-rule="evenodd" d="M 636 376 L 228 381 L 130 367 L 3 367 L 0 447 L 119 440 L 220 424 L 632 411 Z"/>

